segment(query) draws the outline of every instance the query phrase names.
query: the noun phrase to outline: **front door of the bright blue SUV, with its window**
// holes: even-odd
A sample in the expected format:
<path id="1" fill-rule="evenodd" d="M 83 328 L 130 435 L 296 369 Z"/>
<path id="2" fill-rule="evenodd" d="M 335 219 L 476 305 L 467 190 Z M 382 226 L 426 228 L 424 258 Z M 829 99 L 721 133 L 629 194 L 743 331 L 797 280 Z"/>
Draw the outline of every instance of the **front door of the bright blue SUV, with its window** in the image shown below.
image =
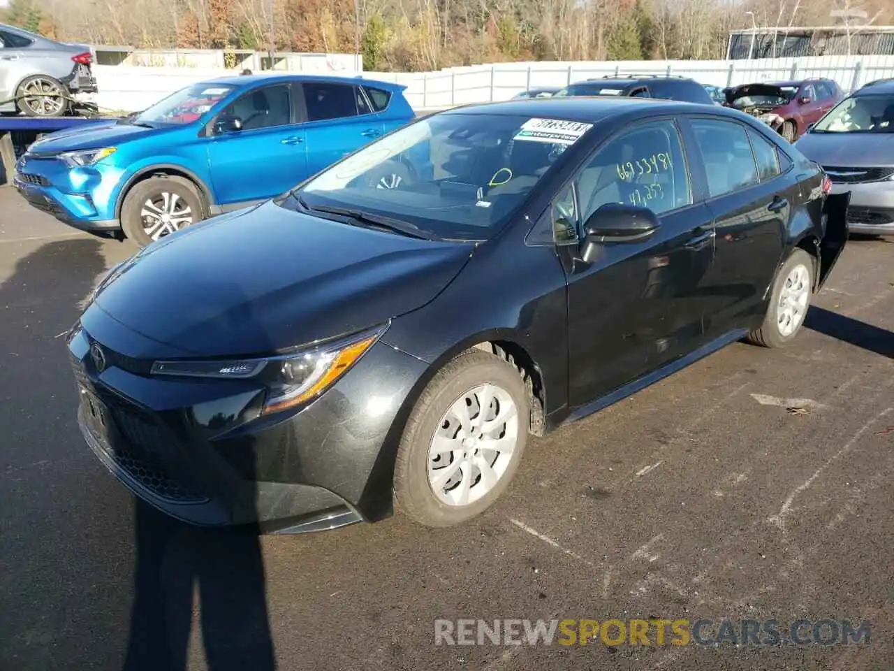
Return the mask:
<path id="1" fill-rule="evenodd" d="M 288 84 L 243 94 L 215 119 L 224 117 L 238 118 L 242 128 L 213 133 L 207 139 L 208 168 L 218 205 L 236 208 L 274 198 L 307 174 L 306 136 L 295 123 Z"/>

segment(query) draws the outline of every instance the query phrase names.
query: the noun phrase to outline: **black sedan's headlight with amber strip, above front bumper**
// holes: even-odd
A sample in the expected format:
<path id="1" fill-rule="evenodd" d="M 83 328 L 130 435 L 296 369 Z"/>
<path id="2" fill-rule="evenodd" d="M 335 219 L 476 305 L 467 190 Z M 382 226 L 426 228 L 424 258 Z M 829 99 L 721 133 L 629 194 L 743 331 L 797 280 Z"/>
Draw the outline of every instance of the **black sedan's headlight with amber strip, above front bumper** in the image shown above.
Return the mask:
<path id="1" fill-rule="evenodd" d="M 186 378 L 257 378 L 269 390 L 264 414 L 279 412 L 322 394 L 382 336 L 387 324 L 317 347 L 263 359 L 156 361 L 153 375 Z"/>

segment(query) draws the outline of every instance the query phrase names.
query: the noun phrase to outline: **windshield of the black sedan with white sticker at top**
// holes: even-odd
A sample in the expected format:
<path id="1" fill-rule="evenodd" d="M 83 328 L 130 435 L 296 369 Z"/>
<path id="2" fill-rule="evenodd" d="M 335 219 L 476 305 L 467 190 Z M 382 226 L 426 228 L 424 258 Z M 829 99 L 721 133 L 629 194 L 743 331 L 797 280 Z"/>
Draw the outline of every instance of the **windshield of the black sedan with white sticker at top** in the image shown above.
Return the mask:
<path id="1" fill-rule="evenodd" d="M 330 166 L 283 199 L 390 217 L 434 237 L 486 240 L 592 123 L 529 115 L 427 116 Z"/>

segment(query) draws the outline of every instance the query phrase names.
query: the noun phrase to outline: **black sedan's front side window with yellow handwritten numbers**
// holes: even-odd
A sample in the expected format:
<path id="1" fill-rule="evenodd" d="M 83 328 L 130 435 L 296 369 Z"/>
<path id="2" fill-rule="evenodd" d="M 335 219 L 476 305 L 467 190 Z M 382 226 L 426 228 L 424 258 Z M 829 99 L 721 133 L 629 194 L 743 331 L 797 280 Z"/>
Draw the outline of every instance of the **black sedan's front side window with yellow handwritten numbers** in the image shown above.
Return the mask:
<path id="1" fill-rule="evenodd" d="M 649 208 L 657 215 L 691 205 L 677 125 L 645 123 L 609 140 L 580 171 L 577 191 L 585 222 L 607 203 Z"/>

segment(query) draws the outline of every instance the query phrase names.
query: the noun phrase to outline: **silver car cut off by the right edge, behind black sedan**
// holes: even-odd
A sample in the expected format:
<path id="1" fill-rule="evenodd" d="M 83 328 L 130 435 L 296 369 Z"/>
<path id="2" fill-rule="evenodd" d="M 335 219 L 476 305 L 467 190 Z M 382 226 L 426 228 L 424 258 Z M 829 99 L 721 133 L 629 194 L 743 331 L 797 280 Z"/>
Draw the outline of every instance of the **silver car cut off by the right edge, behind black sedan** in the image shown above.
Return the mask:
<path id="1" fill-rule="evenodd" d="M 829 174 L 833 193 L 850 191 L 852 233 L 894 235 L 894 81 L 857 90 L 795 146 Z"/>

